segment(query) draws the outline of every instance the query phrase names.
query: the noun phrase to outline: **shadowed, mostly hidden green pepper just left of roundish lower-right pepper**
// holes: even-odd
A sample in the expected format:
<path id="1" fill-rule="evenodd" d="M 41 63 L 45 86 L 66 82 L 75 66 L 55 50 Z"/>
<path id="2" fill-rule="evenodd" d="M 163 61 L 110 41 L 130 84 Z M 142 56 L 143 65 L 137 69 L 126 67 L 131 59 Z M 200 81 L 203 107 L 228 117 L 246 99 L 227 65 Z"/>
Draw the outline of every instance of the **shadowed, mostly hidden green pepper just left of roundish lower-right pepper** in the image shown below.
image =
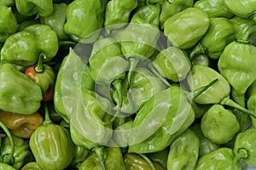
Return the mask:
<path id="1" fill-rule="evenodd" d="M 210 153 L 212 150 L 217 150 L 219 144 L 213 143 L 211 140 L 207 139 L 204 134 L 201 132 L 201 124 L 198 122 L 193 123 L 189 127 L 199 138 L 200 148 L 199 148 L 199 157 Z"/>

